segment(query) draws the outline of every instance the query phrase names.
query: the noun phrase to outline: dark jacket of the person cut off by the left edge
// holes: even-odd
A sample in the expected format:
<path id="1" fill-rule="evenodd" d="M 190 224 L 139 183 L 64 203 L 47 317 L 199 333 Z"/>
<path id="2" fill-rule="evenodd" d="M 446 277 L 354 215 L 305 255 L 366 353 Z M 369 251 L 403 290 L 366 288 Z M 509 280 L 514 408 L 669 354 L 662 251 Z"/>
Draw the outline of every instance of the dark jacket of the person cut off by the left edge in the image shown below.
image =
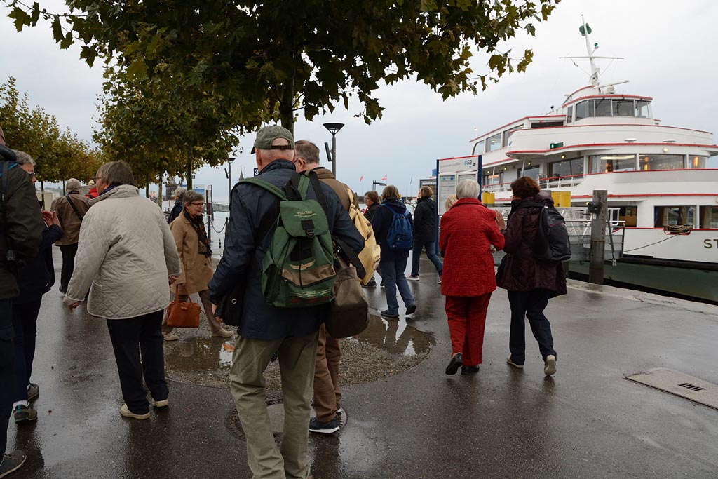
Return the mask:
<path id="1" fill-rule="evenodd" d="M 14 158 L 12 150 L 2 146 L 0 149 L 4 149 L 0 152 L 0 159 Z M 0 185 L 3 180 L 3 164 L 4 161 L 0 161 Z M 3 208 L 7 208 L 6 212 Z M 8 162 L 5 205 L 0 202 L 0 299 L 14 298 L 20 292 L 15 274 L 8 269 L 5 261 L 8 240 L 17 258 L 27 261 L 37 256 L 44 228 L 45 223 L 42 221 L 30 175 L 19 164 Z"/>

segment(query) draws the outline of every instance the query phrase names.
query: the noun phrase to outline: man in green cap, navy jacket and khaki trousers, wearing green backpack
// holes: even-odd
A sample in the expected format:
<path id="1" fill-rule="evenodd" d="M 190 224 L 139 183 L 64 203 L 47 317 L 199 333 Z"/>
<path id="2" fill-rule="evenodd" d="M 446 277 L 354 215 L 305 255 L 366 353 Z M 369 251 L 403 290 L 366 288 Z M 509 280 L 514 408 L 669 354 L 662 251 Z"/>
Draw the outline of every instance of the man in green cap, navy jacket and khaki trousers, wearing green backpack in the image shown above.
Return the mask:
<path id="1" fill-rule="evenodd" d="M 258 131 L 252 153 L 258 178 L 284 187 L 294 166 L 294 138 L 281 126 Z M 327 199 L 327 220 L 332 236 L 360 251 L 363 238 L 342 208 L 332 189 L 322 184 Z M 274 211 L 277 198 L 256 185 L 239 183 L 233 189 L 225 249 L 209 284 L 210 299 L 217 304 L 236 284 L 246 282 L 243 312 L 238 327 L 230 389 L 247 436 L 247 457 L 254 477 L 306 478 L 309 475 L 307 440 L 309 399 L 312 396 L 317 338 L 329 304 L 303 308 L 277 308 L 267 304 L 261 291 L 258 267 L 264 259 L 275 225 L 259 238 L 262 219 Z M 307 197 L 316 199 L 313 188 Z M 266 220 L 265 220 L 266 223 Z M 275 223 L 276 224 L 276 223 Z M 218 318 L 220 319 L 220 318 Z M 281 451 L 274 442 L 264 395 L 264 370 L 279 351 L 284 432 Z"/>

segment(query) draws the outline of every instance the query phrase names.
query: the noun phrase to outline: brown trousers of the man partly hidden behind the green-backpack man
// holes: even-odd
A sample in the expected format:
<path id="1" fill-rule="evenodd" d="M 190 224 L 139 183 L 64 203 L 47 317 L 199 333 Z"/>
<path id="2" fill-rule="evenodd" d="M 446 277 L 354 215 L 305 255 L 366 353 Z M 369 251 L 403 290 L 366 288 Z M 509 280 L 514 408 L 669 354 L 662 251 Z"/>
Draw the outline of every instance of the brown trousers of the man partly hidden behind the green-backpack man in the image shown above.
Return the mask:
<path id="1" fill-rule="evenodd" d="M 330 422 L 341 407 L 339 390 L 339 361 L 342 350 L 339 341 L 332 338 L 322 324 L 317 346 L 317 365 L 314 366 L 314 412 L 319 422 Z"/>

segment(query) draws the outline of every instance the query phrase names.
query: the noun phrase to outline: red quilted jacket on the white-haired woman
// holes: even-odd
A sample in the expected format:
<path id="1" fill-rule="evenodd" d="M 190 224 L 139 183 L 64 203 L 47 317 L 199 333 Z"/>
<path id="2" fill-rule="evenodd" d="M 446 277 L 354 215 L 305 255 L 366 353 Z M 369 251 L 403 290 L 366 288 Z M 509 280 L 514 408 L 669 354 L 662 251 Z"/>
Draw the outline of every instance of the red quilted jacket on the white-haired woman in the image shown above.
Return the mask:
<path id="1" fill-rule="evenodd" d="M 475 198 L 462 198 L 442 216 L 439 249 L 444 251 L 442 294 L 480 296 L 496 289 L 490 245 L 503 249 L 496 213 Z"/>

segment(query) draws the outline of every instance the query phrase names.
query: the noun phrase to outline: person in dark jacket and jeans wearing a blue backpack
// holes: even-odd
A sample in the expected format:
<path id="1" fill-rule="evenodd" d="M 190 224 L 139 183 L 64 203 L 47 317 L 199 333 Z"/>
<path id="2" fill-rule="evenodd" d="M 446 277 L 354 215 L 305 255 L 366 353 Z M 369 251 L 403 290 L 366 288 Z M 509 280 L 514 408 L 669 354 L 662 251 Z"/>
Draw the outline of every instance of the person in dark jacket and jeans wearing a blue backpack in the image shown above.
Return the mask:
<path id="1" fill-rule="evenodd" d="M 398 289 L 401 299 L 404 300 L 406 306 L 406 314 L 412 315 L 416 312 L 416 302 L 414 296 L 409 289 L 409 282 L 406 281 L 404 271 L 406 271 L 406 261 L 409 259 L 409 249 L 406 251 L 394 251 L 389 248 L 387 235 L 393 222 L 394 213 L 403 215 L 406 213 L 406 206 L 399 200 L 399 190 L 394 185 L 388 185 L 381 193 L 381 208 L 376 210 L 371 220 L 374 228 L 376 242 L 381 247 L 381 277 L 384 282 L 384 292 L 386 292 L 386 310 L 381 312 L 383 317 L 391 317 L 398 319 L 399 304 L 396 301 L 396 290 Z M 411 228 L 414 228 L 414 221 L 409 213 L 409 222 Z"/>

